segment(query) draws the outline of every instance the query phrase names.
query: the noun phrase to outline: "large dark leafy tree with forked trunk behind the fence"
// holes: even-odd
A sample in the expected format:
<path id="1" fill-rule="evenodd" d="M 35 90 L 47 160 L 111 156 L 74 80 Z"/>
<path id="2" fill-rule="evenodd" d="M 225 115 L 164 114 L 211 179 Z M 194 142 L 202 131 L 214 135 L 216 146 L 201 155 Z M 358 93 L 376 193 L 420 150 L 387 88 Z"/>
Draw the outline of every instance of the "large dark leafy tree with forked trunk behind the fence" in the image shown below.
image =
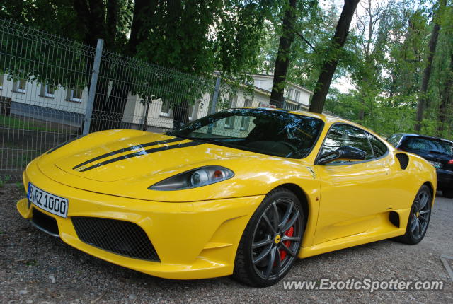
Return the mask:
<path id="1" fill-rule="evenodd" d="M 253 64 L 256 66 L 263 11 L 268 5 L 268 0 L 50 1 L 55 4 L 52 6 L 55 11 L 48 9 L 49 1 L 24 0 L 22 4 L 8 1 L 0 7 L 0 17 L 24 25 L 39 25 L 43 30 L 92 46 L 102 38 L 105 49 L 130 56 L 104 52 L 91 131 L 120 127 L 129 93 L 147 101 L 161 99 L 171 103 L 176 127 L 187 121 L 188 105 L 200 98 L 202 89 L 207 89 L 207 80 L 202 77 L 210 78 L 215 70 L 222 70 L 227 77 L 244 79 Z M 65 31 L 68 24 L 71 30 Z M 159 66 L 146 64 L 148 70 L 137 73 L 134 69 L 139 64 L 131 57 L 178 69 L 193 77 L 168 69 L 163 69 L 161 75 Z M 89 74 L 91 66 L 84 67 Z M 143 77 L 137 79 L 137 74 Z M 55 83 L 52 79 L 46 81 Z M 69 77 L 59 81 L 62 86 L 74 85 Z M 161 87 L 152 86 L 152 81 Z M 88 79 L 76 85 L 84 88 Z M 172 96 L 166 93 L 168 89 L 173 91 Z"/>

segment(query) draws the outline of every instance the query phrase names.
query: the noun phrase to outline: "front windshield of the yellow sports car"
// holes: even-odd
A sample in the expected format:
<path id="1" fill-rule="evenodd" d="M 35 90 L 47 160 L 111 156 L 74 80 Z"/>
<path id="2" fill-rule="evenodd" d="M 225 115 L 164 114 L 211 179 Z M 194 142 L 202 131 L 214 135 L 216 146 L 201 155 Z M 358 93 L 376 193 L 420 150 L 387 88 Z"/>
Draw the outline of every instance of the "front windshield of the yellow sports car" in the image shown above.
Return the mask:
<path id="1" fill-rule="evenodd" d="M 202 117 L 169 134 L 272 156 L 304 158 L 322 127 L 321 119 L 281 110 L 233 109 Z"/>

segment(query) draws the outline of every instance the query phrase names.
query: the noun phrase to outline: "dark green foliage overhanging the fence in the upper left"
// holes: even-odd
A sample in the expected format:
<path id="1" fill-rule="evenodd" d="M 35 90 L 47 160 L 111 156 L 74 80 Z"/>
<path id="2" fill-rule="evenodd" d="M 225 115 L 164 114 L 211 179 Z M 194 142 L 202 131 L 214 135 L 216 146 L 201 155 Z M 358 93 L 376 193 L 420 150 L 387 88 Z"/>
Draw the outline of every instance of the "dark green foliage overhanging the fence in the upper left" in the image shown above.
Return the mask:
<path id="1" fill-rule="evenodd" d="M 79 42 L 96 42 L 97 38 L 104 38 L 105 49 L 127 53 L 142 61 L 105 52 L 98 82 L 101 92 L 106 92 L 111 86 L 117 92 L 137 94 L 144 101 L 160 98 L 173 105 L 194 103 L 208 89 L 212 90 L 214 71 L 222 71 L 222 76 L 236 85 L 250 81 L 248 75 L 258 65 L 265 16 L 268 16 L 269 4 L 273 3 L 270 0 L 149 1 L 147 5 L 155 4 L 155 7 L 134 16 L 134 4 L 139 1 L 82 2 L 74 6 L 75 2 L 69 0 L 50 0 L 50 3 L 25 0 L 22 4 L 9 1 L 0 6 L 0 18 L 32 25 Z M 96 9 L 87 15 L 84 6 L 95 2 Z M 109 10 L 110 2 L 117 5 L 116 13 Z M 50 6 L 55 9 L 49 9 Z M 115 21 L 113 29 L 110 19 Z M 129 40 L 133 21 L 137 21 L 139 26 L 138 36 L 144 37 L 136 46 L 137 52 L 131 51 Z M 65 88 L 88 86 L 94 53 L 92 47 L 26 28 L 15 28 L 16 25 L 8 24 L 8 21 L 0 23 L 11 28 L 11 34 L 21 30 L 28 37 L 40 37 L 25 47 L 21 44 L 21 35 L 1 40 L 1 54 L 15 56 L 4 58 L 2 55 L 0 61 L 0 69 L 11 78 Z M 144 64 L 143 61 L 153 64 Z M 98 95 L 107 98 L 108 94 Z M 126 99 L 118 96 L 121 98 Z M 95 100 L 94 110 L 122 115 L 124 105 L 109 108 L 115 103 L 120 104 L 121 100 L 100 98 Z"/>

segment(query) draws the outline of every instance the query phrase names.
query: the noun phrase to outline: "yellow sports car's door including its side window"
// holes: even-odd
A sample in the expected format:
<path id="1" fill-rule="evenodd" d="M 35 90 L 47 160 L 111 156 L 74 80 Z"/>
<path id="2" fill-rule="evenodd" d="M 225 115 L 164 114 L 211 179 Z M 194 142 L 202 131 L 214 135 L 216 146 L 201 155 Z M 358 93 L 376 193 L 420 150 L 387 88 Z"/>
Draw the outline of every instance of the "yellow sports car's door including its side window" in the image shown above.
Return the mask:
<path id="1" fill-rule="evenodd" d="M 350 124 L 333 124 L 319 157 L 341 146 L 359 148 L 367 156 L 365 160 L 335 160 L 316 165 L 321 200 L 315 244 L 364 232 L 386 206 L 382 204 L 385 189 L 381 181 L 389 182 L 389 168 L 384 158 L 374 157 L 368 134 Z"/>

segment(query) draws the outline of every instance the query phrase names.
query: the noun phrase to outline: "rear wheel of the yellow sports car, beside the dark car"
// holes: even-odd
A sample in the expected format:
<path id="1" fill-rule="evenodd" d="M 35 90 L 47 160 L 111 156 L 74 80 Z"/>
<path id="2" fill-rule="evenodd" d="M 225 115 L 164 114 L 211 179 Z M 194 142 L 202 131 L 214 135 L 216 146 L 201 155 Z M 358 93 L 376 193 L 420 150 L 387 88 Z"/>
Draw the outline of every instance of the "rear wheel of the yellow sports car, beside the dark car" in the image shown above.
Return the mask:
<path id="1" fill-rule="evenodd" d="M 409 245 L 418 244 L 425 237 L 431 218 L 432 193 L 427 185 L 418 190 L 411 206 L 406 233 L 396 238 Z"/>

